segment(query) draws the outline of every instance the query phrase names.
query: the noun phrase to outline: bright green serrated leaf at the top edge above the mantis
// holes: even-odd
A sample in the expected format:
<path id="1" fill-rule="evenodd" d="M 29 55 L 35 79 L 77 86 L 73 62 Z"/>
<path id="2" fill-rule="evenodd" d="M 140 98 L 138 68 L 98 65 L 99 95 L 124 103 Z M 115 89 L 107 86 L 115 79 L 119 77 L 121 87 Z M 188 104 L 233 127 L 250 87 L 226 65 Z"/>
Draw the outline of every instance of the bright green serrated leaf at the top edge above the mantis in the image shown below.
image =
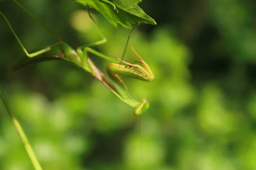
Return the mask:
<path id="1" fill-rule="evenodd" d="M 103 2 L 102 2 L 103 1 Z M 131 29 L 131 24 L 148 23 L 156 25 L 157 23 L 149 17 L 139 6 L 140 0 L 76 0 L 84 6 L 90 6 L 99 11 L 113 26 L 117 24 Z M 116 9 L 113 9 L 113 4 Z"/>

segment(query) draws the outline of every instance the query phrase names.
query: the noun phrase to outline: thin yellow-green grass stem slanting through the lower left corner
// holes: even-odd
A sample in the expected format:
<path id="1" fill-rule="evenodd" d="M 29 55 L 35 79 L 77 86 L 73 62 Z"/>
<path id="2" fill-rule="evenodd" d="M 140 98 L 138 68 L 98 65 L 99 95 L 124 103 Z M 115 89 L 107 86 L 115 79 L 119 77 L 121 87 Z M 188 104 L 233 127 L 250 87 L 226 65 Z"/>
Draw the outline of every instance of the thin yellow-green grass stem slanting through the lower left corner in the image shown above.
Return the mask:
<path id="1" fill-rule="evenodd" d="M 3 94 L 3 91 L 2 91 L 1 89 L 0 89 L 0 98 L 2 99 L 3 105 L 5 106 L 5 108 L 6 108 L 7 112 L 8 112 L 8 114 L 9 114 L 9 116 L 10 116 L 11 119 L 12 119 L 12 122 L 13 122 L 14 125 L 15 125 L 15 128 L 17 129 L 17 132 L 18 132 L 18 134 L 19 134 L 19 136 L 20 136 L 20 139 L 21 139 L 21 141 L 22 141 L 23 144 L 24 144 L 24 147 L 25 147 L 25 149 L 26 149 L 26 152 L 27 152 L 27 154 L 28 154 L 28 156 L 29 156 L 29 159 L 31 160 L 31 162 L 32 162 L 32 164 L 33 164 L 35 170 L 43 170 L 42 167 L 41 167 L 41 165 L 40 165 L 39 162 L 38 162 L 38 159 L 37 159 L 36 156 L 35 156 L 35 153 L 34 153 L 32 147 L 31 147 L 31 145 L 29 144 L 29 141 L 28 141 L 28 139 L 27 139 L 25 133 L 23 132 L 22 127 L 20 126 L 20 123 L 19 123 L 18 120 L 15 118 L 15 116 L 11 113 L 11 110 L 10 110 L 10 108 L 9 108 L 9 103 L 8 103 L 6 97 L 5 97 L 5 95 Z"/>

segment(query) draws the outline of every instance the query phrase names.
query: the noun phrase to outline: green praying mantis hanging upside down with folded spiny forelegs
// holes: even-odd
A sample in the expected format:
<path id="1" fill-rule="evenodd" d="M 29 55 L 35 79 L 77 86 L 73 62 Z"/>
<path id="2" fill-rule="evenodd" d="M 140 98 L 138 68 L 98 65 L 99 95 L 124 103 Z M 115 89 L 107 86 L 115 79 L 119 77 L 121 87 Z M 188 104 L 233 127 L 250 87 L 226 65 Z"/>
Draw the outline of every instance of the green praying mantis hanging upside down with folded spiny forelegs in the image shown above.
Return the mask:
<path id="1" fill-rule="evenodd" d="M 99 79 L 123 102 L 135 108 L 135 111 L 134 111 L 135 115 L 140 115 L 149 108 L 148 101 L 145 98 L 142 99 L 140 102 L 138 102 L 129 94 L 127 86 L 119 77 L 119 75 L 126 76 L 126 77 L 140 79 L 147 82 L 152 82 L 154 80 L 154 75 L 151 69 L 149 68 L 147 63 L 136 53 L 136 51 L 131 46 L 131 44 L 130 44 L 131 49 L 134 52 L 134 54 L 139 58 L 139 61 L 135 62 L 134 64 L 123 61 L 125 51 L 128 46 L 128 41 L 131 36 L 131 32 L 134 30 L 135 27 L 131 29 L 131 32 L 128 36 L 128 40 L 125 45 L 125 50 L 123 52 L 122 59 L 119 59 L 117 57 L 116 59 L 112 59 L 91 48 L 96 45 L 101 45 L 105 43 L 107 40 L 105 36 L 102 34 L 99 27 L 97 26 L 95 20 L 91 16 L 89 8 L 87 8 L 89 17 L 93 21 L 93 24 L 97 29 L 97 31 L 99 32 L 99 35 L 102 37 L 102 40 L 92 42 L 87 45 L 82 45 L 78 47 L 76 50 L 74 50 L 72 47 L 70 47 L 70 45 L 68 45 L 67 43 L 62 41 L 59 37 L 57 37 L 49 28 L 47 28 L 47 26 L 45 26 L 38 19 L 36 19 L 29 11 L 26 10 L 26 8 L 24 8 L 20 3 L 18 3 L 17 0 L 12 0 L 12 1 L 16 3 L 17 6 L 22 8 L 27 14 L 29 14 L 29 16 L 31 16 L 37 23 L 39 23 L 42 27 L 44 27 L 47 31 L 49 31 L 49 33 L 52 34 L 52 36 L 55 37 L 56 40 L 58 40 L 58 42 L 56 42 L 53 45 L 48 45 L 43 49 L 36 49 L 32 53 L 28 53 L 26 48 L 21 43 L 20 39 L 17 37 L 17 34 L 15 33 L 11 24 L 9 23 L 9 20 L 0 11 L 0 14 L 3 16 L 10 30 L 14 34 L 16 40 L 18 41 L 21 48 L 26 54 L 26 56 L 20 57 L 20 59 L 17 61 L 17 63 L 13 67 L 14 70 L 17 70 L 19 68 L 22 68 L 32 63 L 42 62 L 47 60 L 64 60 L 67 62 L 72 62 L 79 68 L 82 68 L 84 71 L 87 71 L 88 73 L 92 74 L 94 77 Z M 104 2 L 102 3 L 106 3 L 105 0 L 103 1 Z M 107 1 L 107 3 L 110 3 L 110 2 Z M 110 5 L 113 6 L 114 8 L 113 10 L 116 10 L 115 6 L 112 3 Z M 99 68 L 97 68 L 94 65 L 93 61 L 88 57 L 88 52 L 111 61 L 111 63 L 106 67 L 106 71 L 110 80 L 108 80 L 107 77 L 99 70 Z"/>

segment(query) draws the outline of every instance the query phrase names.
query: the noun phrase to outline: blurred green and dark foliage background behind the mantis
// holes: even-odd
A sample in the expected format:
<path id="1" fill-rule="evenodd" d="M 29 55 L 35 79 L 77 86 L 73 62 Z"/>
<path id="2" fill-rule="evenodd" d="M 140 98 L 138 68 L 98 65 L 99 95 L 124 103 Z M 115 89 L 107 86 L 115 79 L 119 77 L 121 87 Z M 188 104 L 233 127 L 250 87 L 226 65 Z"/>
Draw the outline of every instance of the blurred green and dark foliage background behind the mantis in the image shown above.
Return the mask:
<path id="1" fill-rule="evenodd" d="M 73 47 L 100 38 L 79 3 L 20 3 Z M 0 87 L 44 170 L 256 170 L 255 0 L 139 5 L 157 26 L 142 24 L 131 43 L 155 80 L 123 79 L 134 98 L 150 103 L 143 116 L 67 62 L 12 71 L 24 53 L 0 17 Z M 11 1 L 0 10 L 27 50 L 56 42 Z M 93 14 L 108 39 L 94 49 L 120 57 L 129 30 Z M 109 62 L 90 57 L 105 72 Z M 130 49 L 125 60 L 136 60 Z M 0 170 L 30 169 L 0 102 Z"/>

